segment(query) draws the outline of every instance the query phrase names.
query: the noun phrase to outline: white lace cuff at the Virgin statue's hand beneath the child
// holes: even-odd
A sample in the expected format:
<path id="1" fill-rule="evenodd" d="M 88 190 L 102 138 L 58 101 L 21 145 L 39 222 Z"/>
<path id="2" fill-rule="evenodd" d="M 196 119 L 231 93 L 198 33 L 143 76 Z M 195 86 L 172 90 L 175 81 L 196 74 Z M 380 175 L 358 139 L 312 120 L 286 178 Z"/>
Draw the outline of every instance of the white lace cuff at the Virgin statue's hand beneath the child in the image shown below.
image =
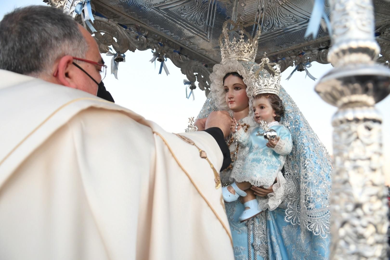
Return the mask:
<path id="1" fill-rule="evenodd" d="M 268 194 L 268 198 L 257 196 L 259 210 L 274 210 L 284 200 L 286 179 L 284 179 L 282 172 L 278 172 L 276 179 L 277 182 L 272 186 L 273 192 Z"/>

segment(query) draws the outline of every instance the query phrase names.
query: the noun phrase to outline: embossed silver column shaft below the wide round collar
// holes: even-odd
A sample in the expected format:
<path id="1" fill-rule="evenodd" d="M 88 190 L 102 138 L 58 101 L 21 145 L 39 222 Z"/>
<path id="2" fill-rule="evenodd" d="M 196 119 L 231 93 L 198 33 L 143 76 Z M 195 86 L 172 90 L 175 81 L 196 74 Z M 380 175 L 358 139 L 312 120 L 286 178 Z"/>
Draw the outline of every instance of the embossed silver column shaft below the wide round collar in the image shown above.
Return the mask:
<path id="1" fill-rule="evenodd" d="M 387 189 L 381 171 L 381 117 L 373 107 L 333 118 L 333 259 L 385 259 Z"/>

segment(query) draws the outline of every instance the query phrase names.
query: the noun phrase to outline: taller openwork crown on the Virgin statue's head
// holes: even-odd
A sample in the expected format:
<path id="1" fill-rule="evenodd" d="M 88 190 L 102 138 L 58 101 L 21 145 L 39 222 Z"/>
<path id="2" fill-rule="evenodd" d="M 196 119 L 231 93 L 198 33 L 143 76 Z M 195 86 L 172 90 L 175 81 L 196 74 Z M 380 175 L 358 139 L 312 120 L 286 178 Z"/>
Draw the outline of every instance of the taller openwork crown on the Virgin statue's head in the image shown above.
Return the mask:
<path id="1" fill-rule="evenodd" d="M 261 31 L 258 29 L 255 37 L 252 38 L 252 36 L 244 30 L 244 27 L 248 27 L 253 24 L 254 23 L 243 25 L 241 21 L 234 23 L 232 20 L 228 20 L 223 23 L 222 34 L 219 38 L 222 60 L 234 58 L 241 61 L 255 61 Z M 233 29 L 229 30 L 227 28 L 228 25 L 233 25 Z M 232 31 L 238 32 L 238 38 L 234 36 L 232 41 L 230 41 L 229 32 Z"/>

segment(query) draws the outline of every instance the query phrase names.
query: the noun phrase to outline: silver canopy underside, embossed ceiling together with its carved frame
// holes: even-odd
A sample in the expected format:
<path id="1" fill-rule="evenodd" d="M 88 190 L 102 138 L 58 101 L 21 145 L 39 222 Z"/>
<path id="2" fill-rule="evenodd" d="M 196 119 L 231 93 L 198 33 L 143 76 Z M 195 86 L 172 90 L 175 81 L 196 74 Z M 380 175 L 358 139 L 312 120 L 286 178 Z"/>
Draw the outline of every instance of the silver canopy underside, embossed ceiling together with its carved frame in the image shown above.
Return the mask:
<path id="1" fill-rule="evenodd" d="M 47 0 L 44 0 L 47 2 Z M 330 41 L 320 28 L 316 40 L 303 36 L 313 0 L 92 0 L 95 15 L 103 16 L 147 37 L 159 39 L 190 60 L 220 62 L 218 38 L 227 19 L 240 17 L 261 24 L 257 57 L 264 52 L 286 67 L 307 61 L 328 63 Z M 378 42 L 390 52 L 387 39 L 390 4 L 374 0 Z M 329 5 L 326 3 L 326 12 Z M 364 19 L 364 18 L 362 18 Z M 252 33 L 257 27 L 247 28 Z M 149 40 L 148 40 L 149 41 Z M 156 41 L 154 41 L 156 42 Z M 383 53 L 388 59 L 390 53 Z"/>

